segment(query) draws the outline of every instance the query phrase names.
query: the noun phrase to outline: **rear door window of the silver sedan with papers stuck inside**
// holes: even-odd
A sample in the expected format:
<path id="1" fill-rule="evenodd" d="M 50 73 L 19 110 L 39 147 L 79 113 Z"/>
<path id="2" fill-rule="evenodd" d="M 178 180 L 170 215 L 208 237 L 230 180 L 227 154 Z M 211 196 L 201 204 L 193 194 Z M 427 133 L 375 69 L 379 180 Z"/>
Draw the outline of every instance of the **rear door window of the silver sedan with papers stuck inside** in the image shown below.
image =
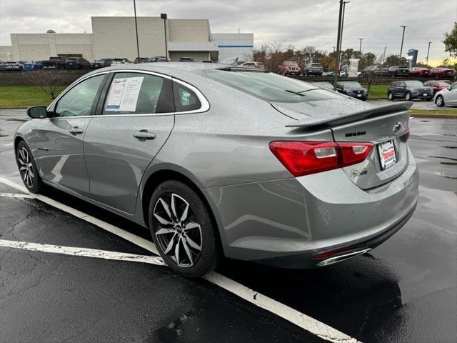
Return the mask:
<path id="1" fill-rule="evenodd" d="M 103 114 L 174 112 L 171 80 L 141 73 L 116 73 L 106 94 Z"/>

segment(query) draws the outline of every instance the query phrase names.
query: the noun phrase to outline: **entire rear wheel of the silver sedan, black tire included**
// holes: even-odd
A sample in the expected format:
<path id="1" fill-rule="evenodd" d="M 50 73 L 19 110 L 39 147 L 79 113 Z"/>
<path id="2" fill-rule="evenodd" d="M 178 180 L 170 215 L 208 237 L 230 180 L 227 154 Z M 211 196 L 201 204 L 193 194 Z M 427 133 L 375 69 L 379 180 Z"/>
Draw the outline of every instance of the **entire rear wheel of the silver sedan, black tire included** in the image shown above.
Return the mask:
<path id="1" fill-rule="evenodd" d="M 168 204 L 170 215 L 164 202 Z M 171 202 L 174 202 L 175 210 Z M 187 212 L 186 204 L 189 205 Z M 183 219 L 184 213 L 186 218 Z M 168 224 L 159 222 L 158 217 Z M 194 225 L 186 229 L 190 224 Z M 183 182 L 169 180 L 159 184 L 149 202 L 149 227 L 161 257 L 174 272 L 184 277 L 201 277 L 214 270 L 221 259 L 219 234 L 211 212 L 199 194 Z M 159 230 L 161 234 L 158 234 Z M 200 249 L 196 249 L 198 247 Z M 169 252 L 166 252 L 167 248 Z"/>

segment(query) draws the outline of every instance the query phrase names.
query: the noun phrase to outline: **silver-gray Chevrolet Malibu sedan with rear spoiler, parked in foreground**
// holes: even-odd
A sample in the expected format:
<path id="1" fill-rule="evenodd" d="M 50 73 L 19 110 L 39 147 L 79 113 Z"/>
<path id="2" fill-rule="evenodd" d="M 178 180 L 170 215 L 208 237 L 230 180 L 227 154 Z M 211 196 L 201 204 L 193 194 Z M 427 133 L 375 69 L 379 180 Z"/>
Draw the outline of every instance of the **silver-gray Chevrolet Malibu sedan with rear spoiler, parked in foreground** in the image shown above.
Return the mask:
<path id="1" fill-rule="evenodd" d="M 14 146 L 30 192 L 46 184 L 141 224 L 186 277 L 223 257 L 320 267 L 413 214 L 410 106 L 257 68 L 126 64 L 29 108 Z"/>

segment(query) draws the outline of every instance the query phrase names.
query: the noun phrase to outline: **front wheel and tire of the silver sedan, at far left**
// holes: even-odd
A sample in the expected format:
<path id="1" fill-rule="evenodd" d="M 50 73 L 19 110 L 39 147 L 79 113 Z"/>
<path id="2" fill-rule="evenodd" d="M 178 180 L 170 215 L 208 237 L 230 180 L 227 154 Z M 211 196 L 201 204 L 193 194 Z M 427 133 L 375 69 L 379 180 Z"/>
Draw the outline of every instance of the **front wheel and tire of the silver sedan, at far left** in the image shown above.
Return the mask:
<path id="1" fill-rule="evenodd" d="M 38 174 L 34 156 L 25 141 L 19 141 L 19 144 L 17 144 L 16 164 L 26 189 L 29 189 L 32 193 L 39 193 L 43 187 L 43 182 Z"/>

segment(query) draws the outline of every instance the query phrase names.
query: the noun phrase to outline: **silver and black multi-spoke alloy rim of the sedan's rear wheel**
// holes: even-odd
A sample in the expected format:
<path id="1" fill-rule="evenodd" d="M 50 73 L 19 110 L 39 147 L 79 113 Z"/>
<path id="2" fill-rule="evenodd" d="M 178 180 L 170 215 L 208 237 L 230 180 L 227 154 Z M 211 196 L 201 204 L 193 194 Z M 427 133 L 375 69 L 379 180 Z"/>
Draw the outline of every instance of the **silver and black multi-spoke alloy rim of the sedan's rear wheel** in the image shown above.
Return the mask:
<path id="1" fill-rule="evenodd" d="M 164 194 L 154 205 L 153 216 L 158 224 L 156 241 L 162 252 L 178 267 L 192 267 L 201 255 L 203 237 L 189 202 L 178 194 Z"/>

